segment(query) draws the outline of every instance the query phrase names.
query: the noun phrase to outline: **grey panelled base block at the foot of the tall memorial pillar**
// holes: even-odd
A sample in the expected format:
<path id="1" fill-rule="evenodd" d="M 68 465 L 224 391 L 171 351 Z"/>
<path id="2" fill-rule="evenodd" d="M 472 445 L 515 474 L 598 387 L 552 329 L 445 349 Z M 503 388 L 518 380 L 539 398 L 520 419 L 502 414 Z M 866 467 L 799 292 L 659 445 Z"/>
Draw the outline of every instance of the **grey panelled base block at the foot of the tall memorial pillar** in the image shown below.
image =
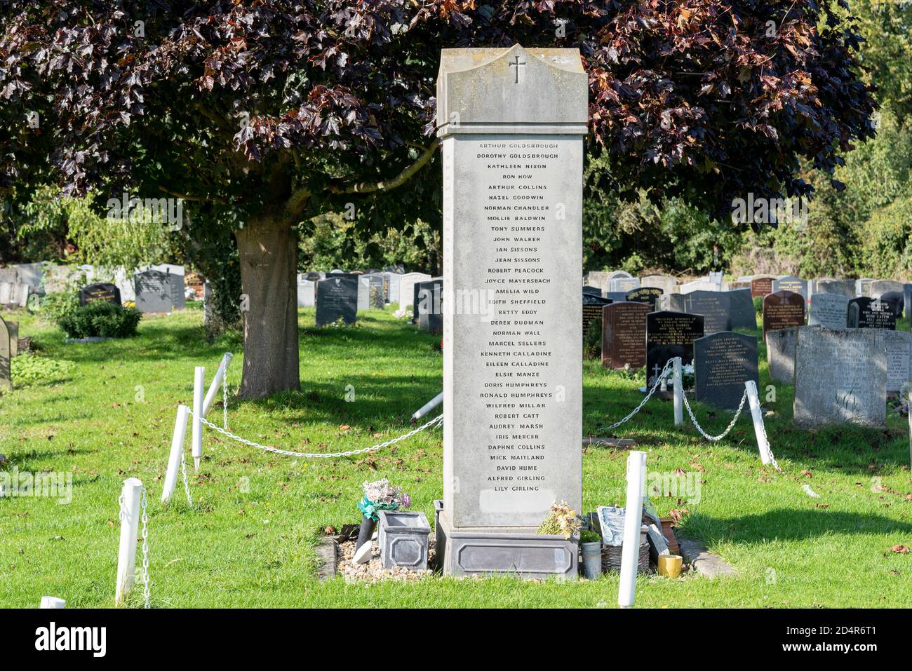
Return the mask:
<path id="1" fill-rule="evenodd" d="M 577 577 L 574 539 L 535 533 L 533 527 L 452 526 L 443 501 L 434 501 L 437 563 L 444 575 Z"/>

